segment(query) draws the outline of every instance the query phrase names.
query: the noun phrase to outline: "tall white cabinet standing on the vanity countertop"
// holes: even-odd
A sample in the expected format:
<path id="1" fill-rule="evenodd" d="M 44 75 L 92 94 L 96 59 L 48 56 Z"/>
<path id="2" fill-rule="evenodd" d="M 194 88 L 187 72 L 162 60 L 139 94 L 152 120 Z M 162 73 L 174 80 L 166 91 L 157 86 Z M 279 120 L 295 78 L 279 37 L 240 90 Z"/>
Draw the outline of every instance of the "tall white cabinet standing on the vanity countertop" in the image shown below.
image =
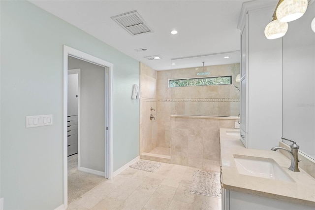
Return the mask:
<path id="1" fill-rule="evenodd" d="M 259 3 L 264 2 L 243 4 L 238 25 L 241 31 L 240 139 L 247 148 L 269 150 L 282 137 L 282 39 L 265 37 L 264 29 L 272 20 L 275 5 Z"/>

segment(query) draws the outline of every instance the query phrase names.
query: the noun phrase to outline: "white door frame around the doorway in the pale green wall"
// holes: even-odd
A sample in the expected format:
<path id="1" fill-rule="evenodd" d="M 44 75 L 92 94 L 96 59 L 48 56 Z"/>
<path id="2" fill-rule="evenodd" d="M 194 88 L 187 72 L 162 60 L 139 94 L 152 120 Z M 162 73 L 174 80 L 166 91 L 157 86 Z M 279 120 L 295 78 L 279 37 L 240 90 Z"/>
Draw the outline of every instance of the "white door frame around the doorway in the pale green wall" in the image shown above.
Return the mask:
<path id="1" fill-rule="evenodd" d="M 105 122 L 105 177 L 111 179 L 113 177 L 113 68 L 114 65 L 96 58 L 92 55 L 76 50 L 74 48 L 63 45 L 63 205 L 64 209 L 68 205 L 68 161 L 67 161 L 67 101 L 68 101 L 68 56 L 78 58 L 102 67 L 105 67 L 105 75 L 107 76 L 107 85 L 105 90 L 105 113 L 107 111 L 108 122 Z M 106 78 L 105 78 L 106 79 Z M 106 83 L 106 82 L 105 82 Z"/>

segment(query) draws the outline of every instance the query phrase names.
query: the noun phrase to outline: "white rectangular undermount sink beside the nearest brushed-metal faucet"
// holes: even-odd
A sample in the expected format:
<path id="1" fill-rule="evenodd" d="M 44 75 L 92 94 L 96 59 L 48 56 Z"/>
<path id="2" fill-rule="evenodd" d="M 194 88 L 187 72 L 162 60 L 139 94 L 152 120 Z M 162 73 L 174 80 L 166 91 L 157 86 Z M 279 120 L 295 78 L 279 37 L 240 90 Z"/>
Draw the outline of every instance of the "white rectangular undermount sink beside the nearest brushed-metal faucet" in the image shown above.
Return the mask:
<path id="1" fill-rule="evenodd" d="M 234 161 L 239 174 L 295 182 L 271 158 L 234 155 Z"/>

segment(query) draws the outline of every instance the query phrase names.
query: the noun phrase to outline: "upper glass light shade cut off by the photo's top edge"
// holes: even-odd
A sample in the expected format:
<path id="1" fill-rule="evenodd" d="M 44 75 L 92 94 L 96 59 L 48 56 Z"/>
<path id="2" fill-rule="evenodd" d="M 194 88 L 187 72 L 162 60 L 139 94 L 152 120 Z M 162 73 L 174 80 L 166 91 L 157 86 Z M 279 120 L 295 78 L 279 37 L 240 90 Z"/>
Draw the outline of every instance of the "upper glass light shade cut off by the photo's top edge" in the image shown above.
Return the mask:
<path id="1" fill-rule="evenodd" d="M 278 20 L 287 23 L 299 19 L 305 13 L 307 4 L 308 0 L 284 0 L 276 11 Z"/>

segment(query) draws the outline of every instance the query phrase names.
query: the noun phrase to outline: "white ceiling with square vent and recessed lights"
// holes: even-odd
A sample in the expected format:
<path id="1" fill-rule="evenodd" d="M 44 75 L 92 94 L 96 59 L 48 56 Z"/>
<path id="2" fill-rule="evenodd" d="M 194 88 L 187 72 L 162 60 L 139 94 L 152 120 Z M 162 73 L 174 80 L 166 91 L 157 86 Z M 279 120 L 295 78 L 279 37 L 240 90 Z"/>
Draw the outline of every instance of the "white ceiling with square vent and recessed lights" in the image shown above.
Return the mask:
<path id="1" fill-rule="evenodd" d="M 31 0 L 155 70 L 240 62 L 236 28 L 247 0 Z M 132 36 L 111 17 L 137 10 L 154 31 Z M 170 31 L 176 29 L 177 35 Z M 135 49 L 147 48 L 137 52 Z M 161 55 L 160 60 L 144 57 Z M 230 56 L 224 59 L 224 56 Z M 176 65 L 171 65 L 176 63 Z"/>

